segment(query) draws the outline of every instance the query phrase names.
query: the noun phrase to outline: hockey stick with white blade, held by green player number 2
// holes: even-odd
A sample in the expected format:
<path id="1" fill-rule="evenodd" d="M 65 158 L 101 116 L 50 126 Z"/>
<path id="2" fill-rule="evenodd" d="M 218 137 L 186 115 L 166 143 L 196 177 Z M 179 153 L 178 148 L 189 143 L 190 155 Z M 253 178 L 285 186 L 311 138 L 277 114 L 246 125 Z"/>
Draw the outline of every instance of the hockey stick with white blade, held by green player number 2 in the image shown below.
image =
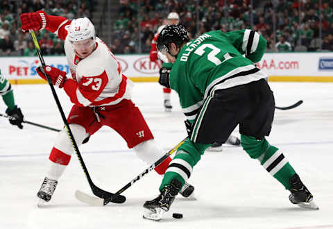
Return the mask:
<path id="1" fill-rule="evenodd" d="M 115 195 L 119 195 L 119 194 L 123 193 L 126 189 L 128 189 L 130 186 L 132 186 L 134 183 L 136 183 L 137 180 L 140 180 L 144 175 L 146 175 L 148 172 L 155 169 L 155 167 L 157 167 L 159 164 L 164 162 L 164 160 L 169 158 L 169 156 L 171 154 L 173 154 L 174 152 L 177 151 L 179 146 L 181 144 L 183 144 L 186 139 L 187 139 L 187 137 L 185 137 L 185 139 L 182 139 L 182 141 L 179 142 L 176 146 L 174 146 L 173 149 L 171 149 L 169 152 L 165 153 L 162 156 L 162 158 L 157 160 L 154 164 L 151 164 L 150 167 L 145 169 L 142 173 L 140 173 L 138 176 L 136 176 L 133 180 L 130 180 L 130 182 L 127 183 L 126 185 L 124 185 L 121 189 L 119 189 L 119 191 L 116 192 Z M 89 205 L 95 205 L 95 206 L 103 206 L 103 205 L 107 205 L 109 202 L 112 202 L 112 198 L 98 198 L 95 196 L 90 196 L 88 194 L 85 194 L 84 192 L 81 192 L 80 190 L 76 190 L 75 196 L 79 201 L 82 201 L 83 203 L 87 203 Z"/>

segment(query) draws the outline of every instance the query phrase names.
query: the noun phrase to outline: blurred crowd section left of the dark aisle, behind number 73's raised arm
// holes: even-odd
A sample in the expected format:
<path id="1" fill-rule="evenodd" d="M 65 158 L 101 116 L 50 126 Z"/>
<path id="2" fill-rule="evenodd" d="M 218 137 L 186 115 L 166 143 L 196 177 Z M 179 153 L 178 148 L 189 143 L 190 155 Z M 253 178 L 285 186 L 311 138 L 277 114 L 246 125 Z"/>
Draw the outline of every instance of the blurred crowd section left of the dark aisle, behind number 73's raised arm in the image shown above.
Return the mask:
<path id="1" fill-rule="evenodd" d="M 92 17 L 92 1 L 76 0 L 21 0 L 0 1 L 0 56 L 37 56 L 35 46 L 28 33 L 22 33 L 19 15 L 22 12 L 44 10 L 51 15 L 74 19 Z M 40 48 L 44 55 L 65 55 L 63 42 L 53 33 L 46 30 L 36 31 Z"/>

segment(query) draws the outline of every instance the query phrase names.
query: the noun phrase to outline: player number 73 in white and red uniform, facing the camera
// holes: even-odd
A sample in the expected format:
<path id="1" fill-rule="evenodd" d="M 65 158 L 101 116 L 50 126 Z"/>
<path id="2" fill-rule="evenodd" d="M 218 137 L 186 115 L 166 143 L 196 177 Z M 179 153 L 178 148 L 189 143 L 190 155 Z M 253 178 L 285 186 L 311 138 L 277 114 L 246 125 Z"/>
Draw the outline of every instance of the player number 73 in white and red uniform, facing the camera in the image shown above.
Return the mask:
<path id="1" fill-rule="evenodd" d="M 44 71 L 50 76 L 53 85 L 63 88 L 74 103 L 67 121 L 78 146 L 102 126 L 110 126 L 144 162 L 152 164 L 162 157 L 163 152 L 153 139 L 142 113 L 131 101 L 133 82 L 122 74 L 114 55 L 96 37 L 94 25 L 87 17 L 71 21 L 65 17 L 46 15 L 46 12 L 39 10 L 23 13 L 20 19 L 24 32 L 46 28 L 65 41 L 71 77 L 56 67 L 46 66 Z M 40 67 L 37 73 L 45 79 Z M 51 199 L 73 152 L 64 128 L 49 156 L 49 171 L 37 193 L 40 202 Z M 170 161 L 171 158 L 167 158 L 155 171 L 164 174 Z M 184 196 L 189 196 L 193 191 L 194 187 L 187 185 Z"/>

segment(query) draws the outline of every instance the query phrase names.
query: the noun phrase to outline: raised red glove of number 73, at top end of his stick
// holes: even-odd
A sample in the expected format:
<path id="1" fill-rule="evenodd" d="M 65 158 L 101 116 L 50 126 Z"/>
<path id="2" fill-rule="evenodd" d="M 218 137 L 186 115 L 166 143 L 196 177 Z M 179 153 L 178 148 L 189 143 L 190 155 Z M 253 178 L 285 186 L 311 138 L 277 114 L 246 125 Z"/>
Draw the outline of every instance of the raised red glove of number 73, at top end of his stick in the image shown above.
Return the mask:
<path id="1" fill-rule="evenodd" d="M 38 10 L 37 12 L 24 12 L 19 16 L 21 19 L 21 29 L 27 32 L 29 29 L 39 31 L 46 27 L 48 18 L 46 12 Z"/>

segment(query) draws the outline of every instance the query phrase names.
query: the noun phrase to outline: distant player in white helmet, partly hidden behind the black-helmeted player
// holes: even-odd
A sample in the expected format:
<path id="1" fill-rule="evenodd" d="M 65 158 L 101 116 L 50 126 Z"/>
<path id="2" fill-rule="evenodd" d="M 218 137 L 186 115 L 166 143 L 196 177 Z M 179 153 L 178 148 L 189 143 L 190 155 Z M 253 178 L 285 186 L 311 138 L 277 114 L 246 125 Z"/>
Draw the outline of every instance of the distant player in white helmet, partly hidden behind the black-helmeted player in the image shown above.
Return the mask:
<path id="1" fill-rule="evenodd" d="M 179 16 L 177 12 L 170 12 L 167 20 L 164 20 L 164 23 L 162 26 L 160 26 L 159 28 L 157 28 L 157 33 L 155 33 L 154 38 L 151 42 L 151 52 L 149 57 L 151 58 L 151 61 L 155 62 L 158 59 L 162 60 L 163 62 L 168 62 L 168 59 L 166 56 L 164 56 L 161 52 L 157 51 L 156 49 L 156 40 L 158 37 L 158 34 L 160 33 L 160 31 L 162 31 L 162 29 L 164 28 L 164 26 L 166 26 L 167 24 L 171 24 L 171 25 L 176 25 L 179 23 Z M 161 74 L 162 68 L 160 69 L 160 74 Z M 165 111 L 170 112 L 172 109 L 172 105 L 171 105 L 171 89 L 167 88 L 167 87 L 163 87 L 163 96 L 164 96 L 164 108 Z"/>

